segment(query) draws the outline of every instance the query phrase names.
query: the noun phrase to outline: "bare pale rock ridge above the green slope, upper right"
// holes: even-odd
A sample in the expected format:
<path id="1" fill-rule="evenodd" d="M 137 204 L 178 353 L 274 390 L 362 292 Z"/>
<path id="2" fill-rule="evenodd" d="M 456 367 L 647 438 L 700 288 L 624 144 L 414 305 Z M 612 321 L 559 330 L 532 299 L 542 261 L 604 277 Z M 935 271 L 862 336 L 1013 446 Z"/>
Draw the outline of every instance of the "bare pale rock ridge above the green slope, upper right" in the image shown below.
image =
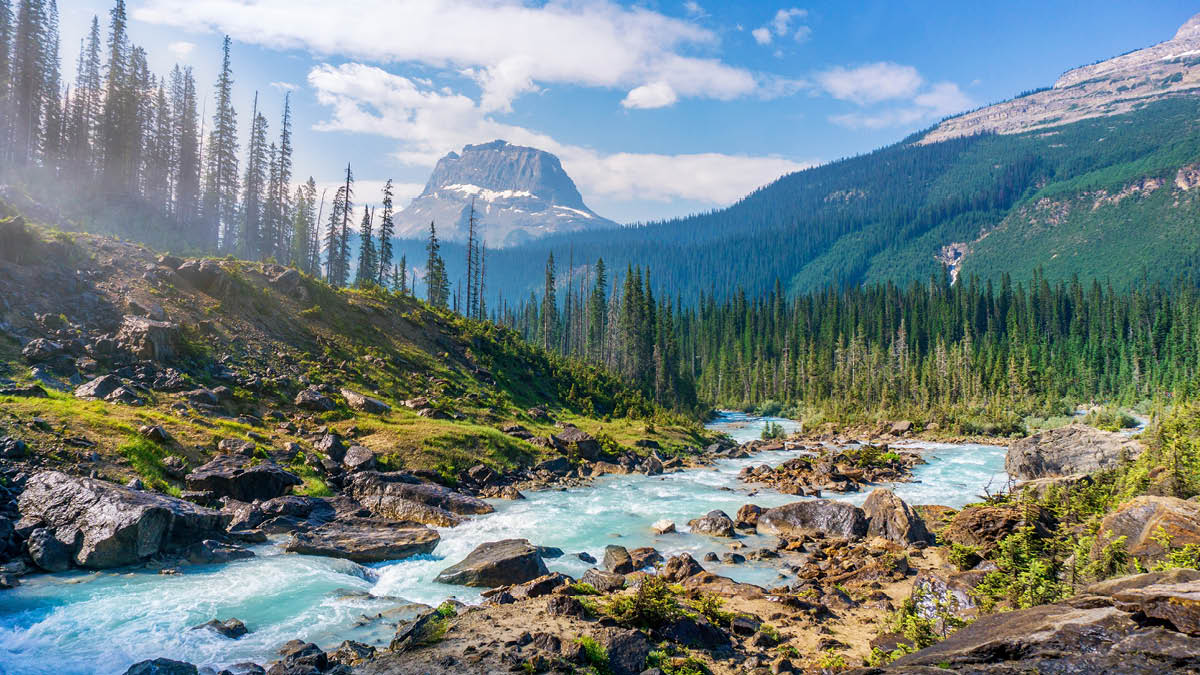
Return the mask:
<path id="1" fill-rule="evenodd" d="M 1020 133 L 1116 115 L 1200 86 L 1200 14 L 1175 37 L 1145 49 L 1067 71 L 1054 86 L 950 118 L 920 143 L 973 133 Z"/>

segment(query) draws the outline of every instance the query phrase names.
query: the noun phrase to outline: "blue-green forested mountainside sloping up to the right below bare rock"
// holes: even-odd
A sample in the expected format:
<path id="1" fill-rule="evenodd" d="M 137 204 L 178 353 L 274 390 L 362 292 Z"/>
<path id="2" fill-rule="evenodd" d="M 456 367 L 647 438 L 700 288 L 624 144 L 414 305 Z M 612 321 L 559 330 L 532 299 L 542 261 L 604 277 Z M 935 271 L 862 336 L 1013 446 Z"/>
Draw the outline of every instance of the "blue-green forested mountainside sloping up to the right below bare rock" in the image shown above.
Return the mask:
<path id="1" fill-rule="evenodd" d="M 528 292 L 527 264 L 604 257 L 648 265 L 655 291 L 728 298 L 828 283 L 924 280 L 944 262 L 1000 281 L 1073 275 L 1126 288 L 1194 264 L 1200 98 L 1020 135 L 978 135 L 875 153 L 779 179 L 732 207 L 491 253 L 492 288 Z M 950 250 L 965 252 L 956 259 Z M 454 258 L 451 257 L 451 261 Z M 580 274 L 578 268 L 572 270 Z M 512 297 L 520 297 L 514 293 Z"/>

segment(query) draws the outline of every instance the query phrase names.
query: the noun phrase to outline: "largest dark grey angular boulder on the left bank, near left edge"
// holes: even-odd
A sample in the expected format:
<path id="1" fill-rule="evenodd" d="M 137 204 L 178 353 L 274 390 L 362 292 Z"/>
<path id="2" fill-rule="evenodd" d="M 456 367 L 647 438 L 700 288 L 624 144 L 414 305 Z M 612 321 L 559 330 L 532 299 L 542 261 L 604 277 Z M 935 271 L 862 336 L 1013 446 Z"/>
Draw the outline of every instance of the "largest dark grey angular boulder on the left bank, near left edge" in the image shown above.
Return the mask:
<path id="1" fill-rule="evenodd" d="M 73 562 L 92 569 L 133 565 L 218 536 L 228 518 L 166 495 L 59 471 L 34 474 L 17 503 L 23 519 L 68 542 Z"/>

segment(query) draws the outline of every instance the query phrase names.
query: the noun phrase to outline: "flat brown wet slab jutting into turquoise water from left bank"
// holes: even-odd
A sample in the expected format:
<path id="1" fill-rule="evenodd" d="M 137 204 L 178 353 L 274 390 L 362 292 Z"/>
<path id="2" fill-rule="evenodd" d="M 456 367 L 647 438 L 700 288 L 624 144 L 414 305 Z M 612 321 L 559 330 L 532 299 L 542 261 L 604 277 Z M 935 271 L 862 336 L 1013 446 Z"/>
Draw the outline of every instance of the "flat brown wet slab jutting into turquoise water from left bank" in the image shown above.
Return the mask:
<path id="1" fill-rule="evenodd" d="M 296 532 L 284 550 L 370 563 L 431 552 L 440 539 L 437 531 L 415 522 L 349 518 Z"/>

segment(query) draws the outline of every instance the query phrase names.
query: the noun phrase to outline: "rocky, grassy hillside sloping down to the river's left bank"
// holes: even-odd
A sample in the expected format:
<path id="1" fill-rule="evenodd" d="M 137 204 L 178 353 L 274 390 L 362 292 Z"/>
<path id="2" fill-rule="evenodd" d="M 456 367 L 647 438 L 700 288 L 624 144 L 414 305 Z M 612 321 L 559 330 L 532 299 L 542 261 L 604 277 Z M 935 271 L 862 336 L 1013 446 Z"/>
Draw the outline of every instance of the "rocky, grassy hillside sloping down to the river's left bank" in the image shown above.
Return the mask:
<path id="1" fill-rule="evenodd" d="M 0 438 L 24 440 L 38 461 L 114 478 L 140 476 L 178 491 L 163 470 L 178 455 L 203 461 L 221 440 L 265 448 L 298 443 L 296 471 L 311 440 L 335 430 L 376 450 L 385 468 L 432 470 L 452 479 L 479 462 L 527 466 L 547 455 L 500 431 L 521 424 L 535 436 L 574 423 L 612 449 L 652 438 L 668 452 L 708 441 L 694 420 L 666 413 L 611 376 L 559 359 L 514 333 L 469 322 L 382 291 L 334 289 L 272 264 L 215 261 L 220 282 L 204 291 L 144 246 L 91 234 L 23 225 L 0 215 L 0 387 L 41 382 L 46 398 L 0 395 Z M 178 371 L 169 388 L 131 387 L 145 405 L 86 401 L 72 395 L 88 380 L 115 372 L 134 378 L 143 362 L 101 354 L 124 317 L 148 313 L 175 327 L 173 356 L 154 359 L 160 375 Z M 43 338 L 68 354 L 31 368 L 22 356 Z M 191 405 L 186 390 L 227 387 L 215 410 Z M 328 386 L 331 411 L 298 408 L 308 386 Z M 385 414 L 352 410 L 341 388 L 391 406 Z M 428 399 L 424 414 L 404 401 Z M 547 414 L 542 416 L 541 408 Z M 436 412 L 431 412 L 436 411 Z M 172 440 L 149 442 L 143 425 L 162 425 Z M 552 450 L 551 450 L 552 453 Z"/>

